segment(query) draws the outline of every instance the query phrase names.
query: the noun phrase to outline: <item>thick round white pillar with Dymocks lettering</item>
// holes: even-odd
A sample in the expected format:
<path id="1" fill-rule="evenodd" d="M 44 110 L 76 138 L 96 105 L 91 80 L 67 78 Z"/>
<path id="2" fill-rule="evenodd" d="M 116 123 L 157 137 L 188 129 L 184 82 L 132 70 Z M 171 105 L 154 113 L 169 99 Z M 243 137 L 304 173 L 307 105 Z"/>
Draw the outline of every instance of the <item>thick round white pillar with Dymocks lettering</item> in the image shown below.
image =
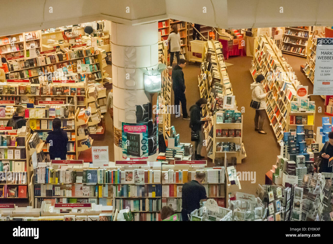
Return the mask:
<path id="1" fill-rule="evenodd" d="M 119 143 L 120 133 L 124 132 L 122 123 L 138 123 L 140 118 L 136 115 L 137 107 L 145 108 L 146 105 L 147 108 L 147 103 L 152 103 L 151 94 L 145 92 L 142 69 L 155 69 L 159 63 L 158 22 L 134 26 L 112 22 L 111 45 L 115 160 L 126 160 L 122 144 L 126 143 L 127 138 L 123 135 L 123 142 Z M 145 140 L 143 142 L 145 143 Z M 148 142 L 146 146 L 148 147 Z M 157 155 L 158 150 L 142 160 L 155 161 Z M 128 157 L 132 159 L 142 156 Z"/>

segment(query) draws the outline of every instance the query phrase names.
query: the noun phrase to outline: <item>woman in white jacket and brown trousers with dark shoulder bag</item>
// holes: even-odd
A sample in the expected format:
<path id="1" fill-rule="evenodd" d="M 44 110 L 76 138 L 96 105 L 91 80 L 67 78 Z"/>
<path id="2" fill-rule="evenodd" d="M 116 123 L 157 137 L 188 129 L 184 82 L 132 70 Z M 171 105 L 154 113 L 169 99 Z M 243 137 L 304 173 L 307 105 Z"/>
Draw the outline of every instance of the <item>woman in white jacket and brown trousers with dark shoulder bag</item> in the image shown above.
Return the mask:
<path id="1" fill-rule="evenodd" d="M 255 82 L 251 84 L 252 90 L 252 100 L 256 102 L 260 102 L 259 109 L 255 110 L 255 117 L 254 117 L 254 130 L 258 130 L 260 134 L 267 134 L 265 131 L 262 130 L 262 125 L 264 123 L 267 109 L 265 97 L 268 95 L 264 92 L 263 85 L 261 82 L 265 79 L 263 75 L 258 75 L 255 79 Z M 260 116 L 260 120 L 259 120 Z"/>

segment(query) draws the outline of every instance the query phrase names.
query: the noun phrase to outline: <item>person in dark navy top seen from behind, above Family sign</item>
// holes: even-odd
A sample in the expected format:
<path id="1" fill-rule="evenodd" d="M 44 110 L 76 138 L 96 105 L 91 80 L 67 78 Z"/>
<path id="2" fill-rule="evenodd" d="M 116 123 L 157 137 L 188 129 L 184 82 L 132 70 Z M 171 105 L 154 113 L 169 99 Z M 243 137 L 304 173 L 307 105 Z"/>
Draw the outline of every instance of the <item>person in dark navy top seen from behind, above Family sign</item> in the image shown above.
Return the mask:
<path id="1" fill-rule="evenodd" d="M 55 118 L 52 122 L 52 131 L 48 132 L 46 143 L 49 143 L 50 159 L 60 158 L 66 160 L 67 157 L 67 133 L 61 128 L 61 120 Z"/>

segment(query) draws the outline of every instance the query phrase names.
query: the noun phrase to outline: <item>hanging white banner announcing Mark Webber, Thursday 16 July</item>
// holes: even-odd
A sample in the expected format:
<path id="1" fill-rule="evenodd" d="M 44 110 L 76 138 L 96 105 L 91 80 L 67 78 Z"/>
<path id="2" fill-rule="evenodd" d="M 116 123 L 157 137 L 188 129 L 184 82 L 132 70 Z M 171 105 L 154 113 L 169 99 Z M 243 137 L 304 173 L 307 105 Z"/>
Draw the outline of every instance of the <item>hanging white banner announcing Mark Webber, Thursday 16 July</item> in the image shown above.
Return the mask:
<path id="1" fill-rule="evenodd" d="M 313 95 L 333 94 L 333 38 L 317 38 Z"/>

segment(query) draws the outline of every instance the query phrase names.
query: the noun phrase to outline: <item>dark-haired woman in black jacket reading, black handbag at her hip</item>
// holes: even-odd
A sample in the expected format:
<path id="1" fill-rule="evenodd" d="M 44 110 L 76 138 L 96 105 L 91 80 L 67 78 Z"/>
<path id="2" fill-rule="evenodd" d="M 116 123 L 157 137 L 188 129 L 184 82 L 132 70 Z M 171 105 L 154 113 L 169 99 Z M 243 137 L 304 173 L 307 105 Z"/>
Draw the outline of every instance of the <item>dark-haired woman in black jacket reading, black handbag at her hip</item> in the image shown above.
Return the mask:
<path id="1" fill-rule="evenodd" d="M 194 142 L 194 154 L 196 160 L 201 160 L 202 158 L 204 158 L 203 156 L 201 156 L 201 148 L 203 145 L 203 141 L 205 139 L 202 129 L 202 124 L 204 124 L 205 121 L 201 121 L 201 118 L 202 118 L 202 108 L 206 103 L 207 100 L 205 98 L 200 98 L 189 109 L 191 113 L 189 127 L 195 134 L 199 135 L 199 139 Z"/>

